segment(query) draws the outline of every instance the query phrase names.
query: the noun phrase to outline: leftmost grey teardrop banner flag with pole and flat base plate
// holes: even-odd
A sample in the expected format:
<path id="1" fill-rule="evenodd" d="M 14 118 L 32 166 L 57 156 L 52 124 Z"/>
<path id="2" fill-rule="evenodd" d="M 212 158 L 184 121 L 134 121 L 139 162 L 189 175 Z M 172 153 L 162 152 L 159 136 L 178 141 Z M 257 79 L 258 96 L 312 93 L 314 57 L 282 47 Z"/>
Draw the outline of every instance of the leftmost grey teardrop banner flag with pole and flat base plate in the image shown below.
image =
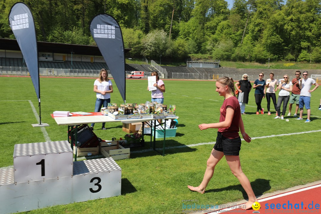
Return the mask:
<path id="1" fill-rule="evenodd" d="M 39 102 L 39 125 L 48 125 L 41 124 L 39 64 L 36 29 L 33 16 L 26 4 L 24 4 L 23 2 L 17 2 L 12 6 L 9 14 L 9 25 L 11 30 L 13 31 L 14 36 L 17 39 L 23 58 L 27 64 L 31 81 L 36 90 Z"/>

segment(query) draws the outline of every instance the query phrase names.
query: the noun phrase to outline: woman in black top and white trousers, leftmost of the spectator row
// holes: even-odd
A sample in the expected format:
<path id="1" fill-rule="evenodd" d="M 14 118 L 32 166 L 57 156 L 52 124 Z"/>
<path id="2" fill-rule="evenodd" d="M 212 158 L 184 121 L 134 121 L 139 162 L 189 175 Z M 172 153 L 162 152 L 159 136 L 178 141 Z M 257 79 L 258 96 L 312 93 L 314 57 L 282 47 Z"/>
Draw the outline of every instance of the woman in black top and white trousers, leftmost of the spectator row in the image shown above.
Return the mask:
<path id="1" fill-rule="evenodd" d="M 252 89 L 247 73 L 243 74 L 242 79 L 235 83 L 235 87 L 239 91 L 238 100 L 241 107 L 241 114 L 245 115 L 245 104 L 248 102 L 248 95 Z"/>

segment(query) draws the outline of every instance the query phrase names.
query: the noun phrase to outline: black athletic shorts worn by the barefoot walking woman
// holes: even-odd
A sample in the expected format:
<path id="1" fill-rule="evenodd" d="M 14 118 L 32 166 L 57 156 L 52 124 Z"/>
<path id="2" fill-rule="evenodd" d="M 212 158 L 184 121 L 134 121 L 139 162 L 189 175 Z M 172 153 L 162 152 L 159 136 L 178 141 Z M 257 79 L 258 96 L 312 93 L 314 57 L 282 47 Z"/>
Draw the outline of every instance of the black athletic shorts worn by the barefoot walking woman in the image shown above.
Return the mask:
<path id="1" fill-rule="evenodd" d="M 224 155 L 239 155 L 241 150 L 241 138 L 229 139 L 217 132 L 216 143 L 213 147 L 217 151 L 221 151 Z"/>

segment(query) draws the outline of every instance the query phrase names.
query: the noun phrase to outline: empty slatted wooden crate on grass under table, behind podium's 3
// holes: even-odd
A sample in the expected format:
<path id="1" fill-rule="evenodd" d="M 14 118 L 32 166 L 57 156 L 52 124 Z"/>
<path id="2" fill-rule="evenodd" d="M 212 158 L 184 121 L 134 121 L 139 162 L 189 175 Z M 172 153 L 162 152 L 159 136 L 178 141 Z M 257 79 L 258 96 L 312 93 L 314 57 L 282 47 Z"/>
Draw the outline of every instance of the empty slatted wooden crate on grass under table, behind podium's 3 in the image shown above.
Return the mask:
<path id="1" fill-rule="evenodd" d="M 114 160 L 130 158 L 130 148 L 124 148 L 119 145 L 118 141 L 100 142 L 100 153 L 106 158 Z"/>

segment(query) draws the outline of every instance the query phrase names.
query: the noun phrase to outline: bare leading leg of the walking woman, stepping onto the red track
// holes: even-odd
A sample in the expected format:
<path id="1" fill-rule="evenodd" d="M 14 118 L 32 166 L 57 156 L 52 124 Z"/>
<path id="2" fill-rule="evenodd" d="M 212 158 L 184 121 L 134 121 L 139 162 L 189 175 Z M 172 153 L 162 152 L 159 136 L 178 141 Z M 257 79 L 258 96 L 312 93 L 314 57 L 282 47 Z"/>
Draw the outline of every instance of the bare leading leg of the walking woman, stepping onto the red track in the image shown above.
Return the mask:
<path id="1" fill-rule="evenodd" d="M 238 179 L 240 184 L 242 185 L 243 189 L 247 193 L 248 201 L 247 203 L 241 207 L 242 210 L 247 210 L 252 207 L 252 204 L 257 201 L 256 196 L 252 190 L 250 181 L 248 180 L 247 176 L 243 173 L 242 168 L 241 168 L 241 163 L 240 163 L 240 158 L 239 156 L 234 156 L 234 155 L 226 155 L 225 156 L 227 163 L 230 166 L 230 169 Z"/>

